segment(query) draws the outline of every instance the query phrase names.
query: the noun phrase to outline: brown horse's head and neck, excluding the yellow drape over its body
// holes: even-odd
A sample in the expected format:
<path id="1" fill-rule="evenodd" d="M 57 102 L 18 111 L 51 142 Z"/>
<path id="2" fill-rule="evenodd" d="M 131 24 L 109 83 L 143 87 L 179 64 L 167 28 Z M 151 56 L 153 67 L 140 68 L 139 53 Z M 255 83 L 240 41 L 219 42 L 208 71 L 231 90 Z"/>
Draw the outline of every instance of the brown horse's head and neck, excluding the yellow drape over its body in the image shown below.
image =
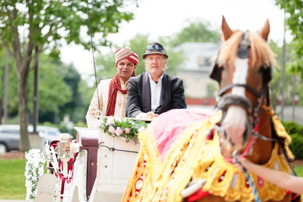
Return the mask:
<path id="1" fill-rule="evenodd" d="M 271 67 L 276 66 L 274 54 L 266 44 L 269 22 L 267 20 L 257 34 L 251 31 L 232 31 L 223 17 L 221 29 L 223 43 L 210 77 L 220 85 L 218 107 L 223 111 L 220 131 L 222 155 L 227 159 L 233 151 L 243 154 L 251 146 L 251 153 L 244 154 L 246 158 L 256 164 L 266 164 L 271 158 L 275 141 L 283 140 L 274 129 L 281 125 L 273 117 L 268 96 Z M 253 135 L 256 137 L 255 142 L 250 145 L 249 140 Z M 288 149 L 284 146 L 278 145 L 278 154 L 283 160 L 285 156 L 292 159 L 291 152 L 283 154 L 283 149 Z M 285 194 L 280 199 L 278 201 L 291 201 L 291 194 Z M 197 201 L 223 199 L 208 195 Z"/>

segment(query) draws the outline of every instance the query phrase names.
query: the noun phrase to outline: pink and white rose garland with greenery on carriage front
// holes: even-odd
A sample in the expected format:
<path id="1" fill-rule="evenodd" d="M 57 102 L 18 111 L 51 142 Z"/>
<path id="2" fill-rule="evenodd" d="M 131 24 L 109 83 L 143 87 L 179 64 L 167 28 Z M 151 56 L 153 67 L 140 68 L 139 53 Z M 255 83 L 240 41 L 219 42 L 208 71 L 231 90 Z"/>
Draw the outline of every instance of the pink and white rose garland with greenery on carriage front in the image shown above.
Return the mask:
<path id="1" fill-rule="evenodd" d="M 101 117 L 98 120 L 98 127 L 108 132 L 112 137 L 120 137 L 123 141 L 131 144 L 139 144 L 138 133 L 141 133 L 148 126 L 145 121 L 127 117 Z"/>

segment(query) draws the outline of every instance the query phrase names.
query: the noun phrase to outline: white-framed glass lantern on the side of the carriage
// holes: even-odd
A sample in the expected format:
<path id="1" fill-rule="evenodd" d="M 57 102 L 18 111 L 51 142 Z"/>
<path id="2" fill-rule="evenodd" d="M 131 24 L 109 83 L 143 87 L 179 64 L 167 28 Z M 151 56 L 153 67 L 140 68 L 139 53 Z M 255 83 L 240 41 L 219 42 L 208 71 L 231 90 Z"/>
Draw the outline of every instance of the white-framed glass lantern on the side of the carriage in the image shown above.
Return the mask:
<path id="1" fill-rule="evenodd" d="M 57 143 L 57 158 L 60 158 L 63 163 L 63 177 L 67 177 L 67 162 L 71 157 L 74 157 L 73 154 L 75 152 L 79 152 L 80 145 L 75 143 L 75 141 L 69 141 L 72 136 L 68 133 L 61 133 L 58 135 L 58 139 L 60 141 Z"/>

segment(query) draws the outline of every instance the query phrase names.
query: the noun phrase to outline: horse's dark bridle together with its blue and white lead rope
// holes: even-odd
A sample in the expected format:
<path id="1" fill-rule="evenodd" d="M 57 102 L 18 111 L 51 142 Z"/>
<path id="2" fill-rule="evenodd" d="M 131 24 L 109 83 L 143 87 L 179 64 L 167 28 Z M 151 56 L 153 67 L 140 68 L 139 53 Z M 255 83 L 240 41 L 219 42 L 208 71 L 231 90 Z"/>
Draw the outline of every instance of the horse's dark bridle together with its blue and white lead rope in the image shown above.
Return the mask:
<path id="1" fill-rule="evenodd" d="M 239 58 L 242 58 L 242 59 L 249 58 L 249 51 L 248 51 L 249 49 L 248 48 L 251 47 L 251 43 L 248 40 L 248 36 L 249 36 L 249 32 L 245 31 L 243 33 L 242 40 L 240 41 L 239 46 L 238 46 L 237 56 Z M 220 50 L 218 52 L 217 58 L 215 59 L 213 66 L 212 66 L 210 78 L 218 81 L 218 83 L 220 85 L 223 67 L 221 67 L 221 64 L 218 64 L 219 53 L 220 53 Z M 269 111 L 271 111 L 270 99 L 269 99 L 269 87 L 268 87 L 268 83 L 271 80 L 271 65 L 266 64 L 265 68 L 262 65 L 260 69 L 263 72 L 263 84 L 262 84 L 261 91 L 257 91 L 255 88 L 253 88 L 252 86 L 250 86 L 248 84 L 239 84 L 239 83 L 229 84 L 219 90 L 218 97 L 216 99 L 218 102 L 217 107 L 223 112 L 222 118 L 220 121 L 220 125 L 226 116 L 226 112 L 227 112 L 227 109 L 229 106 L 231 106 L 231 105 L 240 106 L 240 107 L 244 108 L 248 114 L 248 119 L 246 120 L 246 131 L 245 131 L 245 134 L 243 135 L 244 142 L 247 141 L 247 138 L 249 137 L 249 133 L 251 133 L 253 135 L 253 137 L 255 137 L 255 138 L 260 138 L 265 141 L 273 141 L 273 142 L 278 141 L 281 144 L 282 140 L 279 138 L 268 138 L 268 137 L 265 137 L 264 135 L 258 133 L 259 117 L 260 117 L 261 111 L 263 110 L 263 108 L 265 108 L 265 110 L 268 112 L 268 114 L 269 114 Z M 251 101 L 247 97 L 242 97 L 239 95 L 227 93 L 227 91 L 233 87 L 244 87 L 246 90 L 253 93 L 258 98 L 256 106 L 252 109 Z M 266 106 L 263 106 L 265 98 L 266 98 Z M 271 126 L 273 126 L 272 119 L 271 119 Z M 218 133 L 221 133 L 226 138 L 226 133 L 224 131 L 224 127 L 217 126 L 216 129 L 219 130 Z M 275 131 L 275 130 L 273 129 L 272 131 Z M 248 147 L 245 149 L 245 152 L 242 155 L 247 155 L 248 153 L 252 152 L 251 147 L 254 142 L 254 141 L 252 141 L 253 137 L 251 137 L 251 139 L 248 143 Z M 222 147 L 221 147 L 221 152 L 223 152 Z M 232 157 L 236 161 L 238 161 L 237 157 L 236 157 L 237 152 L 238 151 L 235 150 L 232 155 Z M 283 152 L 284 152 L 287 160 L 289 160 L 288 155 L 286 154 L 284 149 L 283 149 Z M 245 173 L 248 183 L 250 184 L 251 189 L 253 190 L 255 201 L 256 202 L 261 201 L 258 191 L 256 189 L 256 186 L 255 186 L 254 182 L 251 180 L 250 175 L 248 174 L 248 172 L 246 170 L 244 170 L 244 173 Z"/>

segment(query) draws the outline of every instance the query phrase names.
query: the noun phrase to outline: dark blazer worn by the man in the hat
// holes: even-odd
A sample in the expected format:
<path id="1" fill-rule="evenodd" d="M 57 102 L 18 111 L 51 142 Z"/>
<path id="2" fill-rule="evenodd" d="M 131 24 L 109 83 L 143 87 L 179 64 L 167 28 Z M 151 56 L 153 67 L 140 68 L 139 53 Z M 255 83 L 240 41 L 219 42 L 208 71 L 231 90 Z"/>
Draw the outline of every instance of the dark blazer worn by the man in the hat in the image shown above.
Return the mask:
<path id="1" fill-rule="evenodd" d="M 148 71 L 128 80 L 128 96 L 125 105 L 126 117 L 135 117 L 141 112 L 151 111 L 151 90 Z M 155 114 L 171 109 L 186 108 L 183 81 L 164 72 L 160 94 L 160 105 Z"/>

